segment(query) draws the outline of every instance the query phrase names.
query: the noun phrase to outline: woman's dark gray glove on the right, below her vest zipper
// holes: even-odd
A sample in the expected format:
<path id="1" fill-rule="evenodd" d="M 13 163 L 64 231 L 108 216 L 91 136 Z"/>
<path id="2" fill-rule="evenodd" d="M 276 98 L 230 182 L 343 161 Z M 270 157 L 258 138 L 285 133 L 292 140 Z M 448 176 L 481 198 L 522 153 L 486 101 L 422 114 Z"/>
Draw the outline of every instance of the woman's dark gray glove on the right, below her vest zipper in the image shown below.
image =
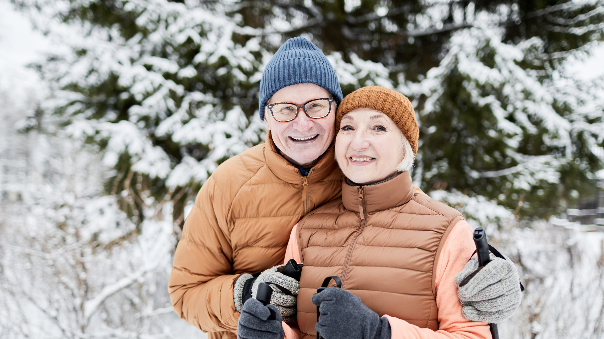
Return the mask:
<path id="1" fill-rule="evenodd" d="M 390 323 L 361 302 L 361 298 L 338 287 L 312 296 L 319 306 L 315 329 L 326 339 L 390 339 Z"/>

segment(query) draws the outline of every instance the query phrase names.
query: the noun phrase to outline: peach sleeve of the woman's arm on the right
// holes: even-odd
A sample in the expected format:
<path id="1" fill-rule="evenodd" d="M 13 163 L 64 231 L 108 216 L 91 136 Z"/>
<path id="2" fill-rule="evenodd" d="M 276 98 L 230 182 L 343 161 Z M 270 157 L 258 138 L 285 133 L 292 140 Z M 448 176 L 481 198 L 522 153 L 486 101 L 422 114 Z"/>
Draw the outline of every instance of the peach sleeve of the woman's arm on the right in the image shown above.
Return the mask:
<path id="1" fill-rule="evenodd" d="M 471 322 L 461 315 L 455 275 L 463 270 L 476 249 L 472 227 L 465 220 L 453 226 L 443 244 L 436 274 L 436 305 L 439 308 L 439 330 L 419 328 L 405 320 L 385 315 L 390 322 L 392 339 L 490 339 L 489 324 Z"/>

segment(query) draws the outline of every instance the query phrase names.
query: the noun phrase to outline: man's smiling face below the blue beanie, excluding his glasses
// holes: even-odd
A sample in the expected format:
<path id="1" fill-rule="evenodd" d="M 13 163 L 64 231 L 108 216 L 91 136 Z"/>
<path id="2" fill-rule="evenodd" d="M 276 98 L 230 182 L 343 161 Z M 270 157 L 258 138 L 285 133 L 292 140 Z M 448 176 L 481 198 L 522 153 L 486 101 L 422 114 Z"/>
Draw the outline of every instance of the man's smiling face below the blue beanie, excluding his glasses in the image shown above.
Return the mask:
<path id="1" fill-rule="evenodd" d="M 304 104 L 318 98 L 330 98 L 332 95 L 323 87 L 316 84 L 295 84 L 278 90 L 266 103 Z M 271 111 L 265 110 L 265 122 L 271 131 L 272 141 L 281 154 L 298 166 L 306 166 L 315 162 L 325 153 L 335 135 L 336 105 L 332 103 L 329 115 L 321 119 L 311 119 L 303 110 L 298 116 L 288 122 L 275 120 Z"/>

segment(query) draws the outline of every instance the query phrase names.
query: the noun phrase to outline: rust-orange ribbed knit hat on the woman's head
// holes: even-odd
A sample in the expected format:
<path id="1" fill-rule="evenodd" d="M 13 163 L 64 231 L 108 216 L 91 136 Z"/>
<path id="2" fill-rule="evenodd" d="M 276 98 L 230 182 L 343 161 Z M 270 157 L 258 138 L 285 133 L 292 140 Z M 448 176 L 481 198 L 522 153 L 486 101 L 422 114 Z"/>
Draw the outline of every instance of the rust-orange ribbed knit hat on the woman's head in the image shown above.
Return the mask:
<path id="1" fill-rule="evenodd" d="M 361 87 L 347 95 L 338 106 L 336 113 L 336 131 L 340 128 L 342 116 L 351 110 L 367 108 L 384 112 L 394 121 L 400 131 L 417 155 L 417 141 L 419 141 L 419 127 L 415 119 L 415 111 L 411 101 L 393 89 L 381 86 Z"/>

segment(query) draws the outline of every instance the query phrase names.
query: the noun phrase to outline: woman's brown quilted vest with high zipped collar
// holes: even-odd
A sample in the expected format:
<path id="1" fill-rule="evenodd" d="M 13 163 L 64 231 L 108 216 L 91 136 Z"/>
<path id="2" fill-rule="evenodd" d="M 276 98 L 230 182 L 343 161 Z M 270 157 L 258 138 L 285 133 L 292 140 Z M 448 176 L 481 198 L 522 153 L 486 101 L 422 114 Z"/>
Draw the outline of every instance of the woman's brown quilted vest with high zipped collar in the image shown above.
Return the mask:
<path id="1" fill-rule="evenodd" d="M 366 186 L 342 184 L 342 199 L 298 224 L 304 262 L 298 294 L 303 338 L 315 337 L 311 297 L 327 276 L 377 312 L 420 328 L 439 328 L 434 267 L 460 212 L 414 194 L 408 173 Z"/>

